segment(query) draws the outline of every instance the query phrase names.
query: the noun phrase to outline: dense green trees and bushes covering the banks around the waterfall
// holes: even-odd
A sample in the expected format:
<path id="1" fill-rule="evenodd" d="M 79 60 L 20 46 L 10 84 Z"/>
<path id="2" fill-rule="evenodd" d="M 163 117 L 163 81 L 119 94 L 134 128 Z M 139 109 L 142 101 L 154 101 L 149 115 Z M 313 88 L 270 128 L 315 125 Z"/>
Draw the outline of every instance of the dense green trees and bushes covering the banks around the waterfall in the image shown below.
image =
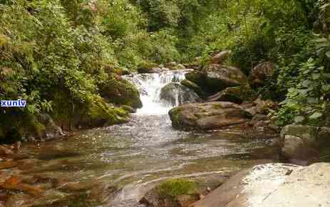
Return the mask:
<path id="1" fill-rule="evenodd" d="M 246 74 L 277 64 L 261 92 L 282 101 L 279 125 L 327 124 L 328 17 L 326 0 L 1 0 L 0 99 L 28 105 L 1 108 L 0 122 L 15 131 L 38 113 L 63 122 L 78 110 L 123 121 L 125 111 L 108 103 L 116 101 L 101 97 L 109 71 L 230 49 L 228 64 Z"/>

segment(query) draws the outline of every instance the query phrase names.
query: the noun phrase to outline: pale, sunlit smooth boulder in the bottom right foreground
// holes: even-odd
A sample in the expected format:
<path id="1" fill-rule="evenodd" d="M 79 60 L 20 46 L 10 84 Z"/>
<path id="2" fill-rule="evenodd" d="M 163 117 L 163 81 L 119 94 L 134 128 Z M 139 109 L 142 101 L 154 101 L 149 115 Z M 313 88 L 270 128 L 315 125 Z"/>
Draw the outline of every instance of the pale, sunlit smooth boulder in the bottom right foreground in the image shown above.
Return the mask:
<path id="1" fill-rule="evenodd" d="M 330 163 L 269 163 L 238 173 L 192 207 L 316 207 L 330 204 Z"/>

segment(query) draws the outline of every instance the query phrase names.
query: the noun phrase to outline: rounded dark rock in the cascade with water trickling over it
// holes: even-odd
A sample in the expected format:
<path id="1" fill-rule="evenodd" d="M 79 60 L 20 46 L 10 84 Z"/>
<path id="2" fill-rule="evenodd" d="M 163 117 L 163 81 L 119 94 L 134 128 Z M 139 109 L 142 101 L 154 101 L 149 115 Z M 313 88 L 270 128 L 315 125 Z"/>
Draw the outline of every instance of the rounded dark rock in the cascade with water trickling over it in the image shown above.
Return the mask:
<path id="1" fill-rule="evenodd" d="M 195 103 L 200 101 L 200 97 L 192 91 L 192 89 L 182 86 L 181 84 L 167 84 L 160 90 L 160 100 L 172 104 L 172 106 L 180 106 L 187 103 Z"/>

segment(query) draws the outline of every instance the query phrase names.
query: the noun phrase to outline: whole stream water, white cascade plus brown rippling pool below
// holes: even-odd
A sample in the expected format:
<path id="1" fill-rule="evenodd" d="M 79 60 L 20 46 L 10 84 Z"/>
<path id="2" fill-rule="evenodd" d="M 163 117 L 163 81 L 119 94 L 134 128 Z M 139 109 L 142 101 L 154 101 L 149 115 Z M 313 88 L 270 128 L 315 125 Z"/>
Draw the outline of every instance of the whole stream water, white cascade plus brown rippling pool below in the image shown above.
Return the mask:
<path id="1" fill-rule="evenodd" d="M 143 108 L 132 114 L 128 123 L 82 131 L 63 141 L 24 146 L 33 166 L 22 164 L 22 173 L 58 182 L 56 187 L 45 187 L 47 191 L 38 202 L 53 199 L 53 206 L 141 206 L 138 200 L 143 193 L 166 178 L 220 178 L 272 161 L 276 155 L 273 139 L 263 133 L 172 128 L 167 115 L 171 106 L 161 103 L 160 89 L 182 80 L 185 72 L 126 77 L 138 86 L 143 101 Z M 100 190 L 95 190 L 97 186 Z M 68 196 L 77 191 L 92 193 L 79 199 Z M 91 202 L 103 194 L 105 203 Z M 57 202 L 65 196 L 72 202 Z"/>

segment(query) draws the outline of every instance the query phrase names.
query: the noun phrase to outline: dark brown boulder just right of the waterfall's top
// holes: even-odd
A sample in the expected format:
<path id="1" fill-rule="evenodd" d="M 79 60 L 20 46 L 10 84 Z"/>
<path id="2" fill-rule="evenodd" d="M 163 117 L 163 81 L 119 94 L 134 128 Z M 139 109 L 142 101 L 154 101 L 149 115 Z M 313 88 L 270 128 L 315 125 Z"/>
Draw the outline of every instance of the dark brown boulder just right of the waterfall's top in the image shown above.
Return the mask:
<path id="1" fill-rule="evenodd" d="M 187 73 L 185 78 L 200 86 L 208 94 L 222 91 L 228 87 L 247 85 L 247 76 L 232 66 L 213 64 L 203 71 Z"/>

